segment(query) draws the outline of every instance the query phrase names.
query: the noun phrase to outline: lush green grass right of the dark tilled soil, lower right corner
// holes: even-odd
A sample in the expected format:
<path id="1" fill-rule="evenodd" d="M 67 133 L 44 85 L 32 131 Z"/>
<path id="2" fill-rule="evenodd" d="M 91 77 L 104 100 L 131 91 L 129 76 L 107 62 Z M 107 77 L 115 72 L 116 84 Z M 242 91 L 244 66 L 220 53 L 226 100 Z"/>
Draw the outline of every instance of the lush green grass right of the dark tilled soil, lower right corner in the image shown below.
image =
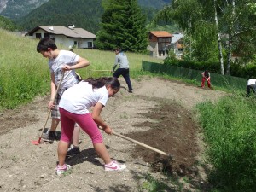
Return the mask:
<path id="1" fill-rule="evenodd" d="M 209 180 L 218 191 L 256 189 L 255 104 L 255 97 L 232 95 L 198 106 L 213 166 Z"/>

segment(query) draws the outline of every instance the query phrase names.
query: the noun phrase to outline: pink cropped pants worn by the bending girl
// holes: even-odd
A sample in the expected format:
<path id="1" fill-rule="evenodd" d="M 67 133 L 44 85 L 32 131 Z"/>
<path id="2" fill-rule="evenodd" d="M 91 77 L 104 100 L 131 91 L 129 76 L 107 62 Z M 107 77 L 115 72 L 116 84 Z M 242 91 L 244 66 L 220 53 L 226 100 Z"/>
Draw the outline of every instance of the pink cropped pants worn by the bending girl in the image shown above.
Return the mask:
<path id="1" fill-rule="evenodd" d="M 77 123 L 81 129 L 86 132 L 92 143 L 102 143 L 102 133 L 99 131 L 96 123 L 90 113 L 75 114 L 70 113 L 64 108 L 60 108 L 61 113 L 61 141 L 70 143 L 73 136 L 73 129 Z"/>

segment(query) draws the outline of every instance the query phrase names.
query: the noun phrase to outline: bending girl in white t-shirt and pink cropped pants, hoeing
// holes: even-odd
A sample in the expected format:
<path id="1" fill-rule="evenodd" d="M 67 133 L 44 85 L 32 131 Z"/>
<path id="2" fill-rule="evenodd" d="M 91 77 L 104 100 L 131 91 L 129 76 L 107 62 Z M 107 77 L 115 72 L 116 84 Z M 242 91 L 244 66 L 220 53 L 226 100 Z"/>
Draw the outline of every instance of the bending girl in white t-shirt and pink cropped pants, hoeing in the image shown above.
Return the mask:
<path id="1" fill-rule="evenodd" d="M 108 151 L 103 143 L 102 134 L 97 125 L 111 134 L 112 129 L 104 122 L 100 113 L 108 102 L 108 97 L 119 91 L 118 79 L 99 78 L 85 79 L 79 84 L 66 90 L 61 96 L 59 104 L 61 113 L 61 141 L 58 145 L 59 165 L 56 167 L 56 174 L 61 176 L 71 166 L 65 163 L 67 148 L 72 140 L 74 125 L 77 123 L 86 132 L 92 141 L 96 153 L 104 161 L 105 171 L 120 171 L 126 168 L 115 160 L 111 160 Z M 90 107 L 94 107 L 89 112 Z"/>

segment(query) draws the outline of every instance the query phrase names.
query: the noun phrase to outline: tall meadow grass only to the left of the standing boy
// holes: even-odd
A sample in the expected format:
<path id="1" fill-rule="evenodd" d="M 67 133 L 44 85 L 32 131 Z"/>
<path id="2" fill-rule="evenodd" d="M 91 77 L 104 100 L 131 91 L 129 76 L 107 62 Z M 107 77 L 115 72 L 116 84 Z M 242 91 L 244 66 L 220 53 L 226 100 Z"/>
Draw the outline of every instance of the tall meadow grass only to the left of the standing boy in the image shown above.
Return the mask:
<path id="1" fill-rule="evenodd" d="M 6 40 L 8 39 L 8 40 Z M 0 110 L 16 108 L 21 103 L 45 94 L 49 73 L 43 58 L 36 57 L 36 41 L 0 30 Z"/>

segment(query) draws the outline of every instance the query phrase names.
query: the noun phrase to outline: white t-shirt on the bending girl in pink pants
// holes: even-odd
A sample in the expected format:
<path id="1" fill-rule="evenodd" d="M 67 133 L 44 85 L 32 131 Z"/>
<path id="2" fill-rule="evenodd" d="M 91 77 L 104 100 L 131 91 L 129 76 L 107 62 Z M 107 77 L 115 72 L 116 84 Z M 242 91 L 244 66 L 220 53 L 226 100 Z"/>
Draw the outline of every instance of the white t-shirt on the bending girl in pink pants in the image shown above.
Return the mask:
<path id="1" fill-rule="evenodd" d="M 89 113 L 89 108 L 95 106 L 97 102 L 106 106 L 108 102 L 106 86 L 93 90 L 91 84 L 81 81 L 63 93 L 59 107 L 70 113 L 85 114 Z"/>

